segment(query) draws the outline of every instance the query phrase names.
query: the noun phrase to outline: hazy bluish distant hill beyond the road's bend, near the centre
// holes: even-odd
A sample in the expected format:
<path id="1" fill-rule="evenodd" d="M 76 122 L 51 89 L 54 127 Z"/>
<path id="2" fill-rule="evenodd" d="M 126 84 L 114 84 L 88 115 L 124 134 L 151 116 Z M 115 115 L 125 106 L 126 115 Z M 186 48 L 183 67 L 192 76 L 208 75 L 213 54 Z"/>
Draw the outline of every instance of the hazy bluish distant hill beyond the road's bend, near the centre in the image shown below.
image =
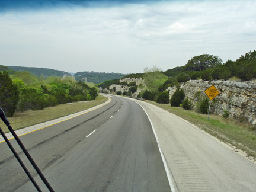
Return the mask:
<path id="1" fill-rule="evenodd" d="M 127 74 L 121 73 L 105 73 L 105 72 L 94 72 L 94 71 L 84 71 L 75 73 L 76 81 L 87 81 L 93 82 L 94 84 L 100 84 L 104 81 L 111 79 L 120 79 Z"/>

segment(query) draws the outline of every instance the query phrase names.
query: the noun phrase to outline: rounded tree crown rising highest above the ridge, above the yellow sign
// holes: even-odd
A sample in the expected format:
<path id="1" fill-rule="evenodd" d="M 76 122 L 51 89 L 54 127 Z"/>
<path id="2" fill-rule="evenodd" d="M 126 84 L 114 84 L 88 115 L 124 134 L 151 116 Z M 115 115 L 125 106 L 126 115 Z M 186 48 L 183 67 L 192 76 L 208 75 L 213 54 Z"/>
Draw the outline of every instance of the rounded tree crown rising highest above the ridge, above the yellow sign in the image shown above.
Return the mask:
<path id="1" fill-rule="evenodd" d="M 184 66 L 185 71 L 204 71 L 208 68 L 215 68 L 222 65 L 222 60 L 218 56 L 203 54 L 188 60 Z"/>

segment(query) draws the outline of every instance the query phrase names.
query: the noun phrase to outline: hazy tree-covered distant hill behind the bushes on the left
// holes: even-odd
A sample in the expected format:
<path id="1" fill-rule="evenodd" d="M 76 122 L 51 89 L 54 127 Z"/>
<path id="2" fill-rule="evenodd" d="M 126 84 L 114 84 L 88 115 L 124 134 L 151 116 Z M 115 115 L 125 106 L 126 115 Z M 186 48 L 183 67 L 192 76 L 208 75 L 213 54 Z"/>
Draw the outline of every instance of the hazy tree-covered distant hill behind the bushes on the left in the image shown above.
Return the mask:
<path id="1" fill-rule="evenodd" d="M 45 78 L 47 76 L 71 76 L 71 74 L 65 71 L 59 71 L 55 69 L 47 69 L 47 68 L 33 68 L 33 67 L 22 67 L 22 66 L 8 66 L 9 69 L 13 69 L 15 71 L 29 71 L 33 75 L 41 76 L 43 75 Z"/>

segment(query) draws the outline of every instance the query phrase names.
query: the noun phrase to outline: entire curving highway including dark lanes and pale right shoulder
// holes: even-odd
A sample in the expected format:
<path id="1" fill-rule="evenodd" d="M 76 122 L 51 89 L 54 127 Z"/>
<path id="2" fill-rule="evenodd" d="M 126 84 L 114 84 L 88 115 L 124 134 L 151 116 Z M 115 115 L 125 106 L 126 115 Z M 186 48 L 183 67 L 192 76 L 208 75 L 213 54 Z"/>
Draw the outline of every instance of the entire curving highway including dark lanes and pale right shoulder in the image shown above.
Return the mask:
<path id="1" fill-rule="evenodd" d="M 256 191 L 256 165 L 225 143 L 155 105 L 108 96 L 20 136 L 55 191 Z M 0 151 L 0 191 L 36 191 L 5 142 Z"/>

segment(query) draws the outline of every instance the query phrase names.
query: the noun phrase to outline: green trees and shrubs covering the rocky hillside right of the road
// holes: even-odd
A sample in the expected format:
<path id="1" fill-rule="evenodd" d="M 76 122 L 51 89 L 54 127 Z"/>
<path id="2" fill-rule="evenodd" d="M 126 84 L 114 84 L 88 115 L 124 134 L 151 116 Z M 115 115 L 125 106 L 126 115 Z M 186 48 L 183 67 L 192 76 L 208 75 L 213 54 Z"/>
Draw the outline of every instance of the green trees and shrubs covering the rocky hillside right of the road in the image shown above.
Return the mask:
<path id="1" fill-rule="evenodd" d="M 245 53 L 241 55 L 236 61 L 228 60 L 226 63 L 218 57 L 209 54 L 203 54 L 199 56 L 194 56 L 188 60 L 187 64 L 184 66 L 179 66 L 173 69 L 168 69 L 162 72 L 161 69 L 153 66 L 153 68 L 145 68 L 144 73 L 130 74 L 124 76 L 124 78 L 142 78 L 145 84 L 140 84 L 140 91 L 135 95 L 136 97 L 145 98 L 147 100 L 153 100 L 158 103 L 168 103 L 170 102 L 169 93 L 167 88 L 176 86 L 180 88 L 181 83 L 184 83 L 190 79 L 202 79 L 204 81 L 209 81 L 212 79 L 241 79 L 241 81 L 249 81 L 256 78 L 256 51 Z M 129 80 L 129 84 L 126 81 L 120 81 L 121 79 L 108 80 L 98 85 L 103 91 L 132 95 L 136 92 L 138 86 L 132 85 L 132 79 Z M 135 83 L 135 82 L 134 82 Z M 116 87 L 111 87 L 111 85 L 121 85 L 123 89 L 116 91 Z M 123 85 L 127 85 L 124 87 Z M 113 89 L 112 89 L 113 88 Z M 125 90 L 129 90 L 128 92 Z M 182 90 L 180 90 L 182 92 Z M 172 98 L 171 105 L 183 105 L 183 108 L 188 110 L 191 108 L 191 102 L 182 97 L 183 94 L 175 94 Z M 184 100 L 184 103 L 183 103 Z M 201 105 L 209 106 L 207 100 L 201 101 Z M 207 107 L 206 107 L 207 108 Z M 201 109 L 200 109 L 201 111 Z M 203 112 L 201 112 L 203 113 Z"/>

